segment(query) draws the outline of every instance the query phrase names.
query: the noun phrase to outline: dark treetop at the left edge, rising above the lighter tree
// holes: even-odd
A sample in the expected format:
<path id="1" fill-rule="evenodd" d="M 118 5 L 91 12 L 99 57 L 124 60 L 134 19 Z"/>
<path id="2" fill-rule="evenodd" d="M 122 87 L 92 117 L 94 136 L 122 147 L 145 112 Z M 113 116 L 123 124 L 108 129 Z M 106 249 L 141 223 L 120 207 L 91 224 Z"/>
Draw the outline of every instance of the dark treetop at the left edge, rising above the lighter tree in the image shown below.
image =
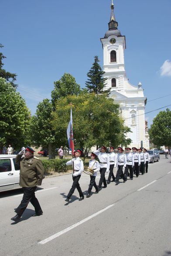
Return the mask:
<path id="1" fill-rule="evenodd" d="M 3 45 L 0 44 L 0 48 L 3 48 Z M 6 81 L 10 82 L 10 84 L 13 87 L 17 87 L 17 84 L 15 84 L 14 82 L 16 81 L 16 74 L 14 73 L 10 73 L 7 72 L 5 69 L 3 69 L 3 59 L 5 59 L 6 57 L 3 55 L 2 52 L 0 52 L 0 77 L 5 78 Z"/>

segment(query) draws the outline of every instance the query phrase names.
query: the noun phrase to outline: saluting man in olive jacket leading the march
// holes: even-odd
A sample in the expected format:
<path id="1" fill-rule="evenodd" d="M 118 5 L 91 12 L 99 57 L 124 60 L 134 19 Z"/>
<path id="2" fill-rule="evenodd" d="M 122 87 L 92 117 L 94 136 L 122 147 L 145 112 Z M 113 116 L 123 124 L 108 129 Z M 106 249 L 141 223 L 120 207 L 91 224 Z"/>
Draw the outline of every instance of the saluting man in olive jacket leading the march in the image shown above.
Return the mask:
<path id="1" fill-rule="evenodd" d="M 25 152 L 25 154 L 24 154 Z M 22 149 L 16 156 L 16 163 L 20 165 L 20 186 L 23 187 L 24 195 L 21 204 L 17 207 L 16 216 L 11 218 L 12 221 L 20 221 L 21 215 L 27 208 L 27 204 L 31 202 L 35 209 L 33 216 L 43 214 L 38 199 L 35 197 L 37 185 L 41 185 L 44 178 L 44 168 L 41 160 L 34 156 L 34 150 L 27 146 Z M 22 157 L 24 154 L 24 157 Z"/>

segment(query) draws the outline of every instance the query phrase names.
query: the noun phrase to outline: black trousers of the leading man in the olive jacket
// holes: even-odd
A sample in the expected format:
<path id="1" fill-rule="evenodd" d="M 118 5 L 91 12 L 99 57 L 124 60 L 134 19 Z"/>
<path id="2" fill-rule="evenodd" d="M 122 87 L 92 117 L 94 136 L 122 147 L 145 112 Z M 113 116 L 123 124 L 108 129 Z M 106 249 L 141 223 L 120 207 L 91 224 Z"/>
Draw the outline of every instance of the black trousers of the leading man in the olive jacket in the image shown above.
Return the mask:
<path id="1" fill-rule="evenodd" d="M 35 212 L 37 215 L 42 213 L 41 206 L 38 202 L 38 199 L 35 197 L 35 190 L 37 187 L 23 187 L 24 195 L 21 200 L 21 204 L 17 207 L 15 212 L 19 215 L 22 215 L 29 202 L 34 206 Z"/>

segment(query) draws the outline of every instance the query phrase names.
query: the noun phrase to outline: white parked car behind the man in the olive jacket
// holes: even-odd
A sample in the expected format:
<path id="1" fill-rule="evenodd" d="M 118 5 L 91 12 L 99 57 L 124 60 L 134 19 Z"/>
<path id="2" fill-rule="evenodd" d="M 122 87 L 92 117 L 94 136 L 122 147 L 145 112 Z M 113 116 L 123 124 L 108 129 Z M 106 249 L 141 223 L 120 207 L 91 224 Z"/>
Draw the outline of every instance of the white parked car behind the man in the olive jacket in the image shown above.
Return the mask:
<path id="1" fill-rule="evenodd" d="M 21 188 L 20 166 L 15 158 L 16 155 L 0 155 L 0 192 Z"/>

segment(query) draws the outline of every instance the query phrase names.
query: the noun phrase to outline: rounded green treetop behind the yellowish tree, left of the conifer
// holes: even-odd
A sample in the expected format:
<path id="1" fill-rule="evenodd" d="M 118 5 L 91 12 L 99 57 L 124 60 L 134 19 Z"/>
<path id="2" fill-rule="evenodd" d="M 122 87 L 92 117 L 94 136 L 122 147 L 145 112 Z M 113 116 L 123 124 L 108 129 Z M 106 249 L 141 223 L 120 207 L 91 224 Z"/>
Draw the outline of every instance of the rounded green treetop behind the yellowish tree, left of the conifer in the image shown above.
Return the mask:
<path id="1" fill-rule="evenodd" d="M 76 83 L 75 78 L 64 73 L 60 80 L 54 82 L 54 90 L 51 92 L 51 102 L 55 107 L 55 104 L 61 97 L 66 97 L 68 95 L 79 95 L 80 85 Z"/>

